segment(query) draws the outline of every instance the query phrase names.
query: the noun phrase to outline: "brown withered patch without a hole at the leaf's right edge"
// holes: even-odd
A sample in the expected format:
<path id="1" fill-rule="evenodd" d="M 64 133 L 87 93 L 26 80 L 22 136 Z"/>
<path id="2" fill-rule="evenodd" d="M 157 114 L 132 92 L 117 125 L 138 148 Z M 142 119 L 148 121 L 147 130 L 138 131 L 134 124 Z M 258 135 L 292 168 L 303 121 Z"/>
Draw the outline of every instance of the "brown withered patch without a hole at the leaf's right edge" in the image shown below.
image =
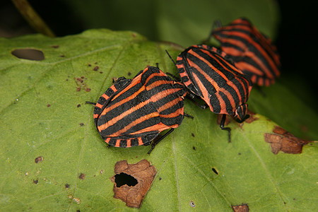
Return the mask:
<path id="1" fill-rule="evenodd" d="M 273 134 L 264 134 L 264 139 L 267 143 L 271 144 L 271 152 L 275 155 L 279 151 L 290 154 L 302 153 L 302 146 L 310 143 L 310 141 L 298 139 L 296 136 L 280 126 L 275 126 Z"/>

